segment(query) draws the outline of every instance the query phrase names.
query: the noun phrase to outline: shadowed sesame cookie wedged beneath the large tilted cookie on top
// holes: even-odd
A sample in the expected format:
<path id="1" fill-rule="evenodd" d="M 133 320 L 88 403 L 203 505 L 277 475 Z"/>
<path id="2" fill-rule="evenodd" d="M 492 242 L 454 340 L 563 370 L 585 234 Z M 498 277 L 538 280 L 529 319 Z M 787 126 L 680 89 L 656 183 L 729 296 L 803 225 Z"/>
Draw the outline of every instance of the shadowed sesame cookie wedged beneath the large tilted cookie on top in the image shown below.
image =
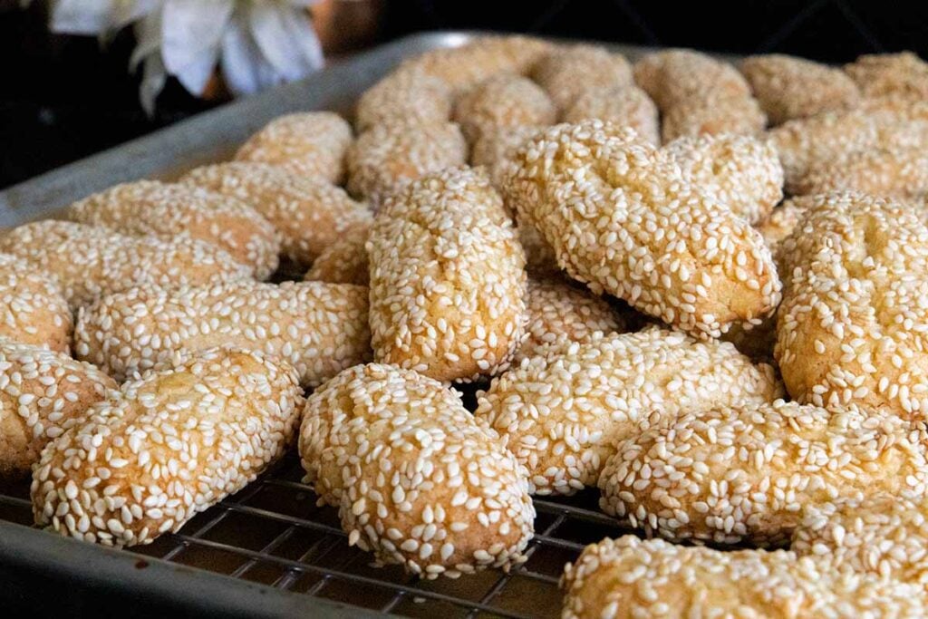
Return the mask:
<path id="1" fill-rule="evenodd" d="M 525 311 L 526 338 L 516 351 L 514 365 L 542 354 L 549 346 L 588 342 L 596 332 L 625 331 L 625 319 L 605 299 L 563 279 L 530 279 Z"/>

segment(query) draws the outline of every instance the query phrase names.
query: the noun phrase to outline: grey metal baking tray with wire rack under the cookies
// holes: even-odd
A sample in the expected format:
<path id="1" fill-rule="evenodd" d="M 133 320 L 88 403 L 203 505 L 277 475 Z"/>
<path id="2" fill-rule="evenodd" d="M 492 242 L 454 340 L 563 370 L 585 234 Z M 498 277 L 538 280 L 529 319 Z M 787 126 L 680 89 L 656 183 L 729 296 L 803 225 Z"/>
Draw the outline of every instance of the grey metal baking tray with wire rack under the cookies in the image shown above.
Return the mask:
<path id="1" fill-rule="evenodd" d="M 73 200 L 142 177 L 171 178 L 228 158 L 272 118 L 297 110 L 348 113 L 354 99 L 403 58 L 466 43 L 432 32 L 360 54 L 303 82 L 200 114 L 158 133 L 0 192 L 0 226 L 54 216 Z M 630 58 L 640 47 L 609 45 Z M 397 566 L 372 568 L 348 547 L 335 509 L 317 508 L 294 455 L 176 535 L 112 550 L 30 528 L 28 486 L 0 486 L 0 612 L 61 616 L 202 615 L 554 617 L 566 561 L 623 530 L 596 510 L 596 493 L 535 499 L 529 560 L 509 574 L 420 581 Z M 220 575 L 221 574 L 221 575 Z"/>

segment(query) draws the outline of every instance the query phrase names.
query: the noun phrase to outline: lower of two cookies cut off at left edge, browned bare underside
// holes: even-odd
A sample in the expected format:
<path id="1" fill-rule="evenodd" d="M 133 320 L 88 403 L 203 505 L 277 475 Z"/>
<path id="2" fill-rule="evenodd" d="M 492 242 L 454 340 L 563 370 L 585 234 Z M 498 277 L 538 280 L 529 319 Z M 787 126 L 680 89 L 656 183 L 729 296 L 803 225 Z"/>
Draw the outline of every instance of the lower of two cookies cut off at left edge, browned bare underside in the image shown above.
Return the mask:
<path id="1" fill-rule="evenodd" d="M 117 387 L 88 363 L 0 338 L 0 479 L 24 476 L 49 441 Z"/>

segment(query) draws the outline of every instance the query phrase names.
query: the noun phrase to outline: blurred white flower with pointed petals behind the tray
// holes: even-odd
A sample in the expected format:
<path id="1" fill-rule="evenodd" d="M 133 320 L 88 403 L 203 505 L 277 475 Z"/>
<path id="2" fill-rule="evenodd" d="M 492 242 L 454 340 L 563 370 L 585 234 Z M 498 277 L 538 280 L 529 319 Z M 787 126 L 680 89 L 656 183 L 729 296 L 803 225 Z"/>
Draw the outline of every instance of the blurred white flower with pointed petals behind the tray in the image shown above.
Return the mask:
<path id="1" fill-rule="evenodd" d="M 109 36 L 130 24 L 150 114 L 168 75 L 202 95 L 216 65 L 235 95 L 297 80 L 322 66 L 306 7 L 318 0 L 57 0 L 51 29 Z"/>

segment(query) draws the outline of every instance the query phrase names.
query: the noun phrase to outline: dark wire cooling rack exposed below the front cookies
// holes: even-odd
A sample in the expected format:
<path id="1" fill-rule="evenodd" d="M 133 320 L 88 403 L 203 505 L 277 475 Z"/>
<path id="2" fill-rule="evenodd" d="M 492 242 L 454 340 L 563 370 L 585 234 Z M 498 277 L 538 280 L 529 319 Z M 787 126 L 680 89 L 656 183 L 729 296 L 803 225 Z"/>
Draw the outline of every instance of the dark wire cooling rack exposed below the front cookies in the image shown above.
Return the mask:
<path id="1" fill-rule="evenodd" d="M 410 617 L 556 617 L 564 563 L 586 544 L 628 531 L 595 510 L 597 493 L 535 499 L 535 539 L 528 561 L 506 574 L 487 570 L 453 580 L 420 580 L 399 566 L 370 565 L 350 548 L 338 510 L 316 507 L 291 454 L 237 495 L 200 513 L 177 534 L 133 551 L 380 613 Z M 28 487 L 3 489 L 0 519 L 32 522 Z"/>

